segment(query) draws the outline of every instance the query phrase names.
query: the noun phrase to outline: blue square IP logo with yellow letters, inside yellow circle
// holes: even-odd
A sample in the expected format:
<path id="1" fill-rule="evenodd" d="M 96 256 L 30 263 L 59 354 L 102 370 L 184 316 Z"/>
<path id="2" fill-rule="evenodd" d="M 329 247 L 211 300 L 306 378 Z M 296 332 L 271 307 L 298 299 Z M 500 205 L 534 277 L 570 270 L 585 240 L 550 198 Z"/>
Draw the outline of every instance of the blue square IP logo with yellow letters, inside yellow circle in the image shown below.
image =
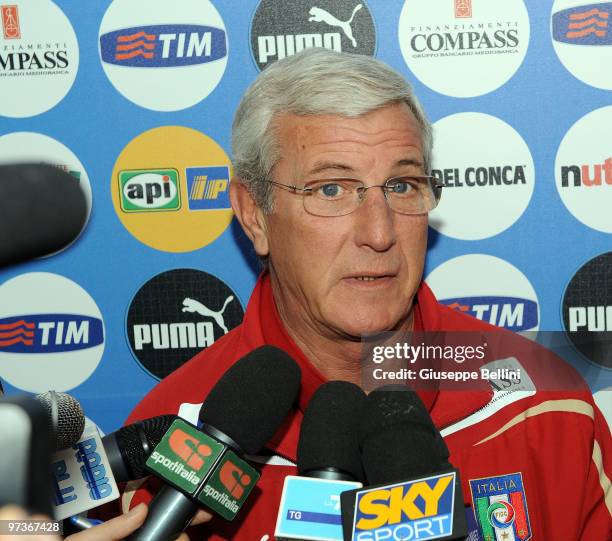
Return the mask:
<path id="1" fill-rule="evenodd" d="M 190 210 L 229 209 L 229 167 L 187 167 Z"/>

